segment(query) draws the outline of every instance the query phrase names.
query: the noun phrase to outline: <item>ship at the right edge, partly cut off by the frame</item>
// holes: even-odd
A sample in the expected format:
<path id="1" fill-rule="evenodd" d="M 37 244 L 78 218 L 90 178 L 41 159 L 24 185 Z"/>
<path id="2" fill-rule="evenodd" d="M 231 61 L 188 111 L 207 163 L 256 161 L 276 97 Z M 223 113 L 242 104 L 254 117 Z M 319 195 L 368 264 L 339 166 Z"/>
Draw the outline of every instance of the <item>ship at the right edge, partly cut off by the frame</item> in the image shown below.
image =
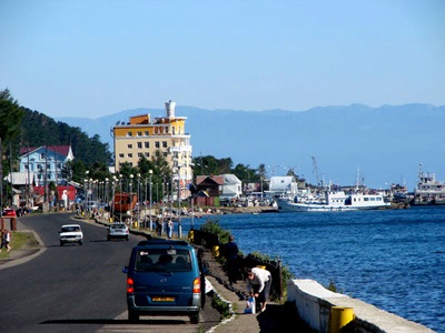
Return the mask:
<path id="1" fill-rule="evenodd" d="M 414 190 L 413 204 L 445 204 L 445 182 L 436 180 L 436 175 L 422 171 L 419 165 L 418 180 Z"/>

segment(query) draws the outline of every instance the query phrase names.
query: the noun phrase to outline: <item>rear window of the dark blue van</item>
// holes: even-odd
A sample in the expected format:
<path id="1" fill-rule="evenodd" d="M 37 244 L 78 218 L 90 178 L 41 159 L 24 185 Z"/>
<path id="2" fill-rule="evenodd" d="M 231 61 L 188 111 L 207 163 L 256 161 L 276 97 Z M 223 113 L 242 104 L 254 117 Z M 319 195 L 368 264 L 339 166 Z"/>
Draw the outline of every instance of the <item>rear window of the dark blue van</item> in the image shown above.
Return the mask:
<path id="1" fill-rule="evenodd" d="M 140 250 L 136 259 L 136 271 L 144 272 L 189 272 L 190 252 L 175 249 Z"/>

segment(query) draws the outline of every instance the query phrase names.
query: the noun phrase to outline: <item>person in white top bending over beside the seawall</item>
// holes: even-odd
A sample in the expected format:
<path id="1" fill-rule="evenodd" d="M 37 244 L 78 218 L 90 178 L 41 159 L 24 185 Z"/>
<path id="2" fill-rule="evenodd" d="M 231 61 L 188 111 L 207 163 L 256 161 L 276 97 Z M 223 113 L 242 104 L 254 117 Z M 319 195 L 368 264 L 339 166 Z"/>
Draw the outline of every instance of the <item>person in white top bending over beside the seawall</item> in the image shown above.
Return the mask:
<path id="1" fill-rule="evenodd" d="M 266 303 L 269 299 L 271 285 L 270 272 L 259 268 L 253 268 L 247 270 L 246 286 L 247 293 L 250 296 L 255 296 L 256 304 L 259 302 L 259 312 L 266 310 Z"/>

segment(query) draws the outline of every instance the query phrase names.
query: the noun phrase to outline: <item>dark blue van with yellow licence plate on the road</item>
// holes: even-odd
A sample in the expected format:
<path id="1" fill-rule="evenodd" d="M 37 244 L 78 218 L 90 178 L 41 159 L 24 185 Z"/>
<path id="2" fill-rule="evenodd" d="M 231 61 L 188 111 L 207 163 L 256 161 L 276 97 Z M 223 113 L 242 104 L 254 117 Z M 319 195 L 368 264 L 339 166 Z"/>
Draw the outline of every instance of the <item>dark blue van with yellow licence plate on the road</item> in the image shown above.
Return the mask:
<path id="1" fill-rule="evenodd" d="M 188 315 L 190 323 L 199 322 L 204 275 L 196 250 L 188 242 L 139 242 L 122 272 L 127 274 L 129 321 L 138 321 L 140 315 Z"/>

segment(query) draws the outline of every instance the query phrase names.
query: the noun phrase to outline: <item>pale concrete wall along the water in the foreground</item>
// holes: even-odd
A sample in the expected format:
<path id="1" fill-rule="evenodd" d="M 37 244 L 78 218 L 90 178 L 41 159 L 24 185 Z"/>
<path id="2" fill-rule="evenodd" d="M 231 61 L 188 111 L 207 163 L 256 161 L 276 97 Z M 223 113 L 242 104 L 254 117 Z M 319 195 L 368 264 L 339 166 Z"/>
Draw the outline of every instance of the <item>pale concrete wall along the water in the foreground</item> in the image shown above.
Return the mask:
<path id="1" fill-rule="evenodd" d="M 352 307 L 354 319 L 349 325 L 364 333 L 434 333 L 433 330 L 377 309 L 360 300 L 334 293 L 314 280 L 290 280 L 287 284 L 287 302 L 295 304 L 299 316 L 320 333 L 336 332 L 332 327 L 334 306 Z"/>

